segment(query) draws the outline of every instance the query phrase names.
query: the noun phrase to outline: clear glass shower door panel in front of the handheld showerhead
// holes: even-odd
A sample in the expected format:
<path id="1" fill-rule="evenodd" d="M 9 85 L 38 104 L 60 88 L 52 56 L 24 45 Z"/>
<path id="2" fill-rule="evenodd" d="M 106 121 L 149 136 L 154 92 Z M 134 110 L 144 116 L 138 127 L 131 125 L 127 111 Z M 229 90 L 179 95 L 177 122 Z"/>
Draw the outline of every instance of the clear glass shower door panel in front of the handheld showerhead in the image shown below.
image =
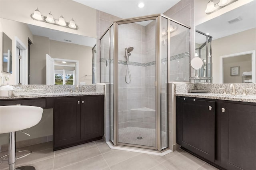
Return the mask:
<path id="1" fill-rule="evenodd" d="M 120 145 L 157 148 L 156 20 L 118 25 Z"/>

